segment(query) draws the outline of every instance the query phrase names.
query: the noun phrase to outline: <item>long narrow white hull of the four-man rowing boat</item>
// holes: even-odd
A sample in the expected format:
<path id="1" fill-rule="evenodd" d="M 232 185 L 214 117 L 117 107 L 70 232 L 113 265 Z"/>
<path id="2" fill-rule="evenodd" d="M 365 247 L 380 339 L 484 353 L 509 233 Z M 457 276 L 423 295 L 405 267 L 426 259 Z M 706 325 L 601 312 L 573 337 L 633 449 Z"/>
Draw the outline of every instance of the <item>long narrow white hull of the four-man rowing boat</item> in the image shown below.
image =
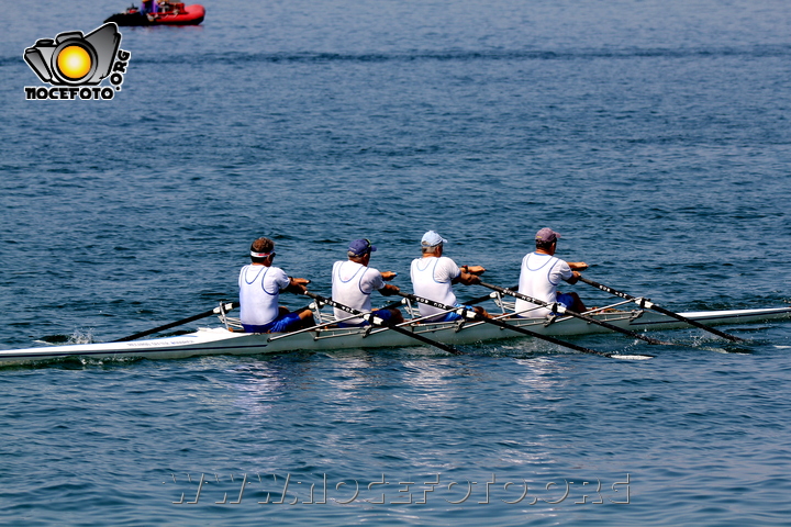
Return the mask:
<path id="1" fill-rule="evenodd" d="M 710 311 L 682 313 L 706 325 L 746 324 L 790 318 L 791 307 L 764 310 Z M 616 312 L 595 315 L 597 318 L 632 332 L 677 329 L 690 327 L 655 312 Z M 578 318 L 558 318 L 552 324 L 544 319 L 509 319 L 510 324 L 549 336 L 575 336 L 612 333 L 610 329 Z M 503 338 L 530 338 L 524 335 L 481 322 L 435 323 L 404 326 L 406 329 L 448 345 L 472 345 Z M 322 351 L 347 348 L 385 348 L 426 346 L 425 344 L 386 328 L 332 328 L 300 334 L 245 334 L 224 327 L 201 328 L 177 337 L 133 340 L 126 343 L 81 344 L 0 351 L 0 366 L 65 359 L 69 357 L 96 360 L 181 359 L 207 355 L 283 354 L 293 350 Z"/>

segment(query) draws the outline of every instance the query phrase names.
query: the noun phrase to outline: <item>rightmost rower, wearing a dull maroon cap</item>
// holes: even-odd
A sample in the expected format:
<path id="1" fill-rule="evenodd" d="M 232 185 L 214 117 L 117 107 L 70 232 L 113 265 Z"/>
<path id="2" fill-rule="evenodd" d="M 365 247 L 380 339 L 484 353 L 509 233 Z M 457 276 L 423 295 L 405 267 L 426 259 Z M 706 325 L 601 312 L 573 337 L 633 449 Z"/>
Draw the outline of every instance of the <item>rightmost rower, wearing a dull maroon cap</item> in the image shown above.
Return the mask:
<path id="1" fill-rule="evenodd" d="M 588 269 L 583 261 L 567 262 L 555 256 L 557 240 L 560 234 L 549 227 L 536 233 L 535 253 L 527 254 L 522 259 L 519 292 L 544 302 L 562 304 L 577 313 L 586 311 L 586 306 L 577 293 L 561 293 L 557 290 L 560 281 L 576 283 L 580 273 Z M 520 316 L 528 318 L 543 318 L 550 312 L 531 302 L 516 299 L 515 311 Z"/>

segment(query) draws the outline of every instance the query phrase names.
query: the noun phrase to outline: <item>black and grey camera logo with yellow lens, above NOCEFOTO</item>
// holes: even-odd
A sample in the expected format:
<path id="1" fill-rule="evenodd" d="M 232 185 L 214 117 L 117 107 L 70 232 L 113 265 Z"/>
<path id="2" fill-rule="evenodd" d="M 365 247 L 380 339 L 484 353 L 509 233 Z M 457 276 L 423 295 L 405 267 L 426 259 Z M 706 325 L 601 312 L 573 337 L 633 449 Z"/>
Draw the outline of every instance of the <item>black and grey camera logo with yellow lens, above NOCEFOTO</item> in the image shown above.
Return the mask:
<path id="1" fill-rule="evenodd" d="M 41 38 L 24 52 L 38 78 L 53 86 L 96 86 L 112 70 L 121 45 L 118 25 L 107 23 L 83 35 L 80 31 Z"/>

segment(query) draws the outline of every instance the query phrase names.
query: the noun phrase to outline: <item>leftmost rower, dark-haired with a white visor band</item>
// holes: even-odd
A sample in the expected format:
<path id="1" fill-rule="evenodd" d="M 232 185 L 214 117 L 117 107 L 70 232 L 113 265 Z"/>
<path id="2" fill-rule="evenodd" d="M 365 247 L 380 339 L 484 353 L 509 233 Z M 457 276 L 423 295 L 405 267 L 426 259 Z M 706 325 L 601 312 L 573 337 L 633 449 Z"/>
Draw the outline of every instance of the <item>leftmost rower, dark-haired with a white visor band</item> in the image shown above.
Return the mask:
<path id="1" fill-rule="evenodd" d="M 275 242 L 257 238 L 250 245 L 252 264 L 239 271 L 239 318 L 246 333 L 280 333 L 314 325 L 309 309 L 289 312 L 278 305 L 281 291 L 304 293 L 310 280 L 286 276 L 272 266 Z"/>

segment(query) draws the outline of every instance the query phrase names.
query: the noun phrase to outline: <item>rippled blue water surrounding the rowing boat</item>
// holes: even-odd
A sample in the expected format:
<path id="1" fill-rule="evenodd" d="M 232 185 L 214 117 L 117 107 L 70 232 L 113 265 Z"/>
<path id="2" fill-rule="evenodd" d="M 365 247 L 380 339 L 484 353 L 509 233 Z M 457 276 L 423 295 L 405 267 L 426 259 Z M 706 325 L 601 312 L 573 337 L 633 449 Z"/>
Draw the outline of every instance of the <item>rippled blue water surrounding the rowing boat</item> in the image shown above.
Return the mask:
<path id="1" fill-rule="evenodd" d="M 24 48 L 124 2 L 3 0 L 0 348 L 233 300 L 261 235 L 321 294 L 357 237 L 408 287 L 428 228 L 510 285 L 548 225 L 670 309 L 791 300 L 788 2 L 204 4 L 122 29 L 123 90 L 65 102 L 24 100 Z M 0 523 L 788 525 L 791 323 L 728 330 L 750 343 L 575 339 L 643 362 L 512 340 L 4 369 Z"/>

